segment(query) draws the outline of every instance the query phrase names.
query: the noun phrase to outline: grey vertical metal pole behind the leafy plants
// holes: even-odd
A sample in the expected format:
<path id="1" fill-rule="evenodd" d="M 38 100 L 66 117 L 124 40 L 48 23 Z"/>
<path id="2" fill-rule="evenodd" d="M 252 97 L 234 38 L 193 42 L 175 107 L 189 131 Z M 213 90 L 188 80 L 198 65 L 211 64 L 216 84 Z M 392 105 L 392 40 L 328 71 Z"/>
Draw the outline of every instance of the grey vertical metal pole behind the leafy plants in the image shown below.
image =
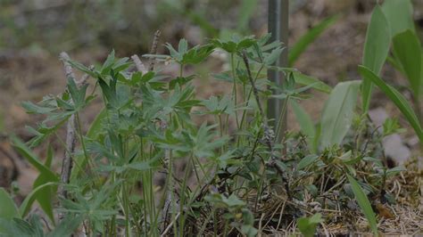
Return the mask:
<path id="1" fill-rule="evenodd" d="M 268 17 L 268 31 L 271 33 L 271 41 L 278 40 L 284 44 L 284 51 L 280 54 L 280 58 L 275 62 L 278 67 L 287 67 L 288 65 L 288 16 L 289 16 L 289 0 L 269 0 L 269 17 Z M 276 70 L 268 70 L 268 77 L 270 81 L 281 85 L 284 81 L 284 74 Z M 281 115 L 284 102 L 277 99 L 269 99 L 268 102 L 268 117 L 274 119 L 270 123 L 275 129 L 278 127 L 278 121 L 282 124 L 279 131 L 279 141 L 286 133 L 286 113 L 284 118 L 279 118 Z"/>

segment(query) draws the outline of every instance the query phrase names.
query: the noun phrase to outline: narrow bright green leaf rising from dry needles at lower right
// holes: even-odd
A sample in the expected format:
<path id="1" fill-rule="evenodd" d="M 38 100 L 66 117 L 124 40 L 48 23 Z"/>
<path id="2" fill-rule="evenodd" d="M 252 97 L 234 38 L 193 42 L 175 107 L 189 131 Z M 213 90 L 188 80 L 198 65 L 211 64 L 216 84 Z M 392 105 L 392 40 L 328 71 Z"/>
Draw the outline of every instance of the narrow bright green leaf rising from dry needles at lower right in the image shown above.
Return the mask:
<path id="1" fill-rule="evenodd" d="M 371 208 L 369 199 L 361 189 L 360 184 L 352 176 L 346 176 L 348 177 L 348 181 L 351 184 L 352 192 L 354 192 L 355 199 L 359 203 L 361 211 L 364 213 L 364 216 L 366 216 L 373 234 L 377 236 L 378 233 L 376 215 L 373 209 Z"/>

